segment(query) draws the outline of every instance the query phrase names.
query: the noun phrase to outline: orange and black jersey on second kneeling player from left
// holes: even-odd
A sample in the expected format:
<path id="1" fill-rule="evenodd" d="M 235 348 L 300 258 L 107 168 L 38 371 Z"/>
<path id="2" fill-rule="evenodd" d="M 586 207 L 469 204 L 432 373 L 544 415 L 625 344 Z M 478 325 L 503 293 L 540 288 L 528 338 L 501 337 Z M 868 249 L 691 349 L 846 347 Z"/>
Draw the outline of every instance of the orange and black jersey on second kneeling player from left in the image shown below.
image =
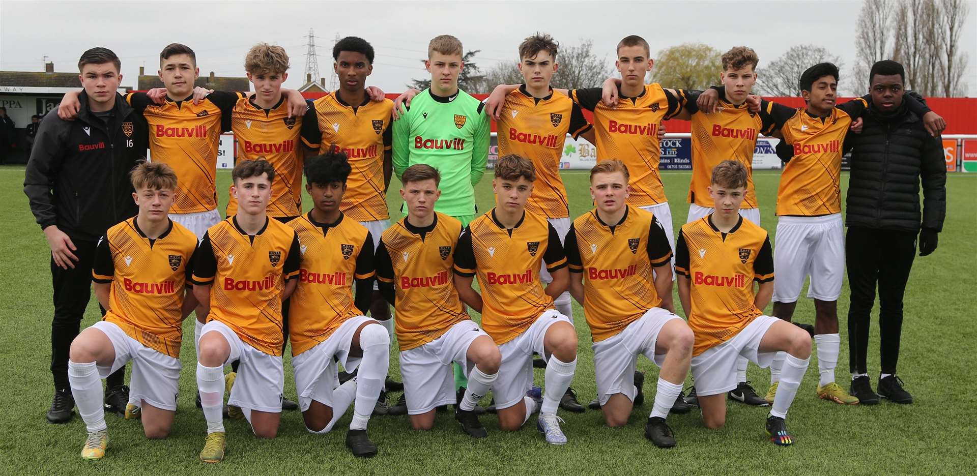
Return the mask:
<path id="1" fill-rule="evenodd" d="M 271 218 L 254 235 L 237 217 L 211 226 L 193 258 L 193 284 L 210 285 L 207 321 L 218 320 L 241 340 L 271 355 L 281 355 L 281 292 L 299 274 L 299 237 Z"/>

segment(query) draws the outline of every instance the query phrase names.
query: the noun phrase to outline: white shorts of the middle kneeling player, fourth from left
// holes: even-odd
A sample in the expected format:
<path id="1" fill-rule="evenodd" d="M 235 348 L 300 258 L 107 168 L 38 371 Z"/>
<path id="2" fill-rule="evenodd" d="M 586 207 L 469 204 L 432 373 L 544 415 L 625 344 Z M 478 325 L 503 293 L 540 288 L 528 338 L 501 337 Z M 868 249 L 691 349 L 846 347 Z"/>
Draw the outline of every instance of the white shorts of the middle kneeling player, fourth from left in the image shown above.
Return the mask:
<path id="1" fill-rule="evenodd" d="M 465 320 L 451 326 L 441 337 L 401 352 L 407 415 L 426 414 L 436 407 L 456 403 L 451 363 L 464 369 L 467 377 L 474 367 L 468 363 L 468 347 L 482 336 L 488 334 L 475 321 Z"/>

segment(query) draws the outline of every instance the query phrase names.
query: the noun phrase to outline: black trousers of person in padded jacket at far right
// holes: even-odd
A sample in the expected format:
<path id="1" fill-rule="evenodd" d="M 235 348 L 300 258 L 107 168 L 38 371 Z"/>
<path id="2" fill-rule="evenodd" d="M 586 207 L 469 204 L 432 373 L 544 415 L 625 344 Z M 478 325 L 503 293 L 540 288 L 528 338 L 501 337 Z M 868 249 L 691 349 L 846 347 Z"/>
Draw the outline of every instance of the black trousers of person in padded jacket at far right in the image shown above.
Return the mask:
<path id="1" fill-rule="evenodd" d="M 903 295 L 913 268 L 916 233 L 848 228 L 845 256 L 851 305 L 848 307 L 849 367 L 868 373 L 871 307 L 878 283 L 879 354 L 882 374 L 895 374 L 903 330 Z"/>

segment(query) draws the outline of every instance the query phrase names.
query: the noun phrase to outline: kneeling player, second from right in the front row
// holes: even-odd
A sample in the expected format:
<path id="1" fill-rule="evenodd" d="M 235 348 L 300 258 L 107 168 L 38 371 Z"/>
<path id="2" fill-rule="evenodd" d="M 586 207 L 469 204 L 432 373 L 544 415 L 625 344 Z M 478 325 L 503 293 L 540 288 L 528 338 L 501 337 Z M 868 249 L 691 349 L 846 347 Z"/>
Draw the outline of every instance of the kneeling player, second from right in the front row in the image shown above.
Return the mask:
<path id="1" fill-rule="evenodd" d="M 668 237 L 651 212 L 625 205 L 628 179 L 619 160 L 606 160 L 590 171 L 590 196 L 597 208 L 573 220 L 564 247 L 570 292 L 583 304 L 593 334 L 604 419 L 610 426 L 627 423 L 641 392 L 634 379 L 638 355 L 644 354 L 661 368 L 645 437 L 659 448 L 671 448 L 675 438 L 665 417 L 689 373 L 693 335 L 671 312 Z"/>

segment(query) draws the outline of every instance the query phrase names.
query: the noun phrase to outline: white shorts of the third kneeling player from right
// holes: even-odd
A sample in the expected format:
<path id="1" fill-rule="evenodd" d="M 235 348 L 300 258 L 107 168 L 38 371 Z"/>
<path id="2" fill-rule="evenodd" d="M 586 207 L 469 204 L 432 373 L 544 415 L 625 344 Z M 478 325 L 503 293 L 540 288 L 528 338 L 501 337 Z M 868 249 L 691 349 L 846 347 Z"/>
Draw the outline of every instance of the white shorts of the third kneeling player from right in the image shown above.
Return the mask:
<path id="1" fill-rule="evenodd" d="M 523 401 L 526 392 L 532 388 L 532 353 L 546 355 L 543 337 L 550 326 L 561 321 L 573 326 L 569 317 L 549 309 L 540 314 L 526 332 L 498 346 L 502 364 L 491 388 L 495 408 L 507 409 Z"/>

